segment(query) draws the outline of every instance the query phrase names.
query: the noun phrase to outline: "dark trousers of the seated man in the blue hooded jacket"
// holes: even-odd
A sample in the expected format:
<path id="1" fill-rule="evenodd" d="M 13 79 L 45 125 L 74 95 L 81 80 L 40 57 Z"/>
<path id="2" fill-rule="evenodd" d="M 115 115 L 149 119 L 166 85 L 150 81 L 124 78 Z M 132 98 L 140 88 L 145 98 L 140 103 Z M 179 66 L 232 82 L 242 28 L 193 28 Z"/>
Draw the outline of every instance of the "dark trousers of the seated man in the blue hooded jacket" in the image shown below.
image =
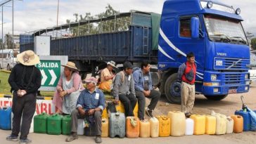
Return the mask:
<path id="1" fill-rule="evenodd" d="M 138 110 L 138 117 L 139 119 L 144 118 L 145 114 L 145 105 L 146 105 L 146 97 L 144 96 L 144 93 L 141 91 L 135 91 L 136 98 L 138 98 L 138 104 L 139 104 L 139 110 Z M 151 98 L 151 103 L 148 105 L 149 110 L 154 110 L 155 106 L 158 104 L 158 100 L 161 96 L 160 91 L 151 90 L 151 94 L 147 98 Z"/>

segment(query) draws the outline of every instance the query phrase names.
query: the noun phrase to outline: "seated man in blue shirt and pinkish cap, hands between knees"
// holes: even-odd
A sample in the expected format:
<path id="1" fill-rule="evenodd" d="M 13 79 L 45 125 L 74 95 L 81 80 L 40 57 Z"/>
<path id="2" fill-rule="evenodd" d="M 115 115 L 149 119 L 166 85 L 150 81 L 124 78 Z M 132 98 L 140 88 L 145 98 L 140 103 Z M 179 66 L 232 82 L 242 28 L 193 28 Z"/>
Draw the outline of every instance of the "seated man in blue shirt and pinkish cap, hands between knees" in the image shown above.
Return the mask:
<path id="1" fill-rule="evenodd" d="M 77 139 L 77 119 L 86 119 L 89 125 L 95 126 L 96 143 L 101 143 L 101 113 L 105 107 L 105 96 L 96 88 L 97 79 L 86 79 L 87 89 L 84 89 L 77 100 L 77 108 L 71 113 L 71 134 L 66 138 L 70 142 Z"/>

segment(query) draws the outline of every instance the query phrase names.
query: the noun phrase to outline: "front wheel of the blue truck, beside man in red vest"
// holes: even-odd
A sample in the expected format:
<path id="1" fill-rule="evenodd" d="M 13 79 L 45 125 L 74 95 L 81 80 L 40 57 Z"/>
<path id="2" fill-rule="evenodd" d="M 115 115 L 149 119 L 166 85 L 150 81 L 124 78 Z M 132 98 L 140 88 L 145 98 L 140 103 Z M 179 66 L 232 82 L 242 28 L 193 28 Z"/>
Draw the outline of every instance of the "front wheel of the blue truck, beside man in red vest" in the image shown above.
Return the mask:
<path id="1" fill-rule="evenodd" d="M 165 96 L 169 103 L 181 103 L 181 83 L 177 82 L 177 73 L 170 75 L 166 80 Z"/>

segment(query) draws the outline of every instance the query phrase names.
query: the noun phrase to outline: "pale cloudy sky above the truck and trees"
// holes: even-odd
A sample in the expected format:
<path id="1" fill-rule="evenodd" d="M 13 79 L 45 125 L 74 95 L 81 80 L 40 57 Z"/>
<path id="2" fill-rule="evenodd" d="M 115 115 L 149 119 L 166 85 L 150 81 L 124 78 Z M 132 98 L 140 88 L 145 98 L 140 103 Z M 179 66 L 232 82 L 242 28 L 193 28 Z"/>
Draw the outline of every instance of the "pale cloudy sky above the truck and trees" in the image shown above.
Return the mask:
<path id="1" fill-rule="evenodd" d="M 6 0 L 0 0 L 1 2 Z M 73 13 L 85 15 L 90 12 L 96 15 L 110 4 L 120 12 L 130 10 L 151 11 L 161 13 L 165 0 L 60 0 L 59 22 L 65 24 L 67 19 L 75 20 Z M 245 20 L 245 31 L 256 35 L 256 1 L 255 0 L 218 0 L 234 8 L 241 8 L 241 16 Z M 56 25 L 58 0 L 23 0 L 14 1 L 14 34 L 53 27 Z M 4 34 L 12 32 L 11 3 L 4 6 Z M 1 9 L 0 9 L 1 10 Z M 1 19 L 0 19 L 1 20 Z M 0 29 L 1 32 L 1 29 Z"/>

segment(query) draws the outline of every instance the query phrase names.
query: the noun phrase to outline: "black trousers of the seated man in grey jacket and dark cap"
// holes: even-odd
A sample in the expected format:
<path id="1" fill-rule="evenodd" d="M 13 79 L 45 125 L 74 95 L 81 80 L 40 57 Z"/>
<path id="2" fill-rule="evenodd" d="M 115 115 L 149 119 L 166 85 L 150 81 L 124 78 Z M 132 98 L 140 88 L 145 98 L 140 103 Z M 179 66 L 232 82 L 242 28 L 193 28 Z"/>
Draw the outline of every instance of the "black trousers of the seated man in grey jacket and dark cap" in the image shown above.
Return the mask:
<path id="1" fill-rule="evenodd" d="M 119 100 L 124 105 L 125 117 L 134 116 L 134 107 L 136 106 L 137 103 L 137 99 L 135 98 L 134 94 L 120 94 Z"/>

